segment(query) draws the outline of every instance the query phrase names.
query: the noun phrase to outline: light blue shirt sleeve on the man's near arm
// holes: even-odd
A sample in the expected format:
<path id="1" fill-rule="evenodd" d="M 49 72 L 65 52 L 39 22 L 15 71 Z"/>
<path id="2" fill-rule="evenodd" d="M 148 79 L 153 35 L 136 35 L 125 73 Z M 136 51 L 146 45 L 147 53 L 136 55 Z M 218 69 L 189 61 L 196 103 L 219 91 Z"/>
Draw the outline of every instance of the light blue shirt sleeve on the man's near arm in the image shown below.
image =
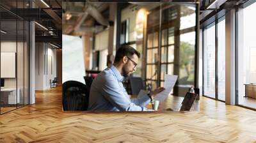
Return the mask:
<path id="1" fill-rule="evenodd" d="M 138 99 L 136 103 L 132 103 L 127 96 L 122 91 L 119 86 L 118 80 L 113 78 L 111 75 L 106 76 L 102 81 L 102 95 L 106 100 L 112 103 L 118 110 L 122 111 L 145 111 L 147 108 L 143 106 L 136 105 L 136 103 L 142 102 L 144 98 Z"/>

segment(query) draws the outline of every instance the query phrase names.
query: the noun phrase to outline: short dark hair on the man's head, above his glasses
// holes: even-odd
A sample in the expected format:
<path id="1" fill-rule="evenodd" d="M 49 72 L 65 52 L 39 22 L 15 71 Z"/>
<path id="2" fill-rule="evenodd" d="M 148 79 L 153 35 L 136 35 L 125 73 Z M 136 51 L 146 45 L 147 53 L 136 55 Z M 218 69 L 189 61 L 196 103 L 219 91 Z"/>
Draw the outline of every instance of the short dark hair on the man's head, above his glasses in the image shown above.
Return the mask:
<path id="1" fill-rule="evenodd" d="M 116 51 L 115 63 L 120 61 L 124 56 L 130 57 L 136 54 L 140 58 L 140 52 L 129 45 L 123 45 Z"/>

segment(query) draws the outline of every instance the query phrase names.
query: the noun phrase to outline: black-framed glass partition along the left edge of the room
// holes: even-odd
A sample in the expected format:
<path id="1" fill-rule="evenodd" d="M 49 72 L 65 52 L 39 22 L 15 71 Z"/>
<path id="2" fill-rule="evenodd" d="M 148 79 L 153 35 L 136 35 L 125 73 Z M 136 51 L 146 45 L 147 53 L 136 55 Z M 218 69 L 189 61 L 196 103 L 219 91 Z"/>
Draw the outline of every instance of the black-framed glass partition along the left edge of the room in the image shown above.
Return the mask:
<path id="1" fill-rule="evenodd" d="M 29 22 L 14 14 L 26 2 L 0 1 L 0 114 L 29 103 Z"/>

